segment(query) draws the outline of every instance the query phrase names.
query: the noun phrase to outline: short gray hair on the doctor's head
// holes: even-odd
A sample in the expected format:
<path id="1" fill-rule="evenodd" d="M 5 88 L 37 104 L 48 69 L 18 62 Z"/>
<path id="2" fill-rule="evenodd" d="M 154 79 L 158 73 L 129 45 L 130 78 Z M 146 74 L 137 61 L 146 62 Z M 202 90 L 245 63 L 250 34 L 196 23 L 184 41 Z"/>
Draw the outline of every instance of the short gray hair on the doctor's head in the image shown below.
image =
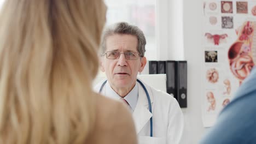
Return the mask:
<path id="1" fill-rule="evenodd" d="M 104 29 L 101 41 L 101 53 L 106 52 L 106 39 L 114 34 L 130 34 L 135 35 L 138 39 L 137 50 L 141 57 L 144 57 L 146 38 L 144 33 L 137 26 L 129 25 L 127 22 L 118 22 Z"/>

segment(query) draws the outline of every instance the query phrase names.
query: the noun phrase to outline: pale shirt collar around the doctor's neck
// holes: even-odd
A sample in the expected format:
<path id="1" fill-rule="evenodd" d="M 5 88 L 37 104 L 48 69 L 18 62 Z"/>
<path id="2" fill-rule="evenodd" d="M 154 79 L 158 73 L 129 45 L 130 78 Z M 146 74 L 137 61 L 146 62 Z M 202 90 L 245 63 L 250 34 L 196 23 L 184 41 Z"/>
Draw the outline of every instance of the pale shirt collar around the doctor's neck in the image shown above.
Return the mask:
<path id="1" fill-rule="evenodd" d="M 120 95 L 114 91 L 112 87 L 110 87 L 109 82 L 106 83 L 106 93 L 105 95 L 109 98 L 121 100 Z M 135 110 L 135 106 L 138 101 L 138 82 L 136 82 L 135 86 L 132 90 L 124 97 L 127 103 L 130 105 L 132 112 Z"/>

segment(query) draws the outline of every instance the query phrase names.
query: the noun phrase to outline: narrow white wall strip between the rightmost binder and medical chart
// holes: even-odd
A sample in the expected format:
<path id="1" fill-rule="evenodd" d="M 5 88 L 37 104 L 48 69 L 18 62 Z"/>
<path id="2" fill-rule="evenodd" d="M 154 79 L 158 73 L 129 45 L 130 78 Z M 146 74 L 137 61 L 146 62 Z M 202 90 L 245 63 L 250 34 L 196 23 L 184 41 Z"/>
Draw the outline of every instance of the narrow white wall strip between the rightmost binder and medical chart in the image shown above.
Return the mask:
<path id="1" fill-rule="evenodd" d="M 197 143 L 205 128 L 201 119 L 202 91 L 202 7 L 203 2 L 183 0 L 184 57 L 188 61 L 188 109 L 184 112 L 182 143 Z"/>

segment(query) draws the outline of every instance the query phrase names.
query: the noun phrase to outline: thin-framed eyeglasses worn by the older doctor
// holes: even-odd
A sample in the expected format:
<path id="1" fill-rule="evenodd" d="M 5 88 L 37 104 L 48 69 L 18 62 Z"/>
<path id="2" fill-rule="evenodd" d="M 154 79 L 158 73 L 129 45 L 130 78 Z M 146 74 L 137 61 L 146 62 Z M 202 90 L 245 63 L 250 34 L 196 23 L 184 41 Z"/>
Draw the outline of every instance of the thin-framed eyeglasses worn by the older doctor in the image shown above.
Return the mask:
<path id="1" fill-rule="evenodd" d="M 102 56 L 106 55 L 108 59 L 118 59 L 122 53 L 124 53 L 126 59 L 130 59 L 130 60 L 136 60 L 138 59 L 139 56 L 141 56 L 139 55 L 139 53 L 131 52 L 131 51 L 128 51 L 128 52 L 107 51 Z"/>

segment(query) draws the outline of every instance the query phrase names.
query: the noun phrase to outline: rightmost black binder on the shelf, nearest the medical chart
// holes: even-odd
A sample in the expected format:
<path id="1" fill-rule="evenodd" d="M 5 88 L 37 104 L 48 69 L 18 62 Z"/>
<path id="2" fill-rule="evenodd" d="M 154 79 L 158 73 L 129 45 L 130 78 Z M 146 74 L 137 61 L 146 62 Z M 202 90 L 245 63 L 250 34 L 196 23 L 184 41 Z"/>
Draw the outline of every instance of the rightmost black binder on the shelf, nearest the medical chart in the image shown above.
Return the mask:
<path id="1" fill-rule="evenodd" d="M 176 61 L 177 100 L 179 106 L 187 107 L 187 61 Z"/>

